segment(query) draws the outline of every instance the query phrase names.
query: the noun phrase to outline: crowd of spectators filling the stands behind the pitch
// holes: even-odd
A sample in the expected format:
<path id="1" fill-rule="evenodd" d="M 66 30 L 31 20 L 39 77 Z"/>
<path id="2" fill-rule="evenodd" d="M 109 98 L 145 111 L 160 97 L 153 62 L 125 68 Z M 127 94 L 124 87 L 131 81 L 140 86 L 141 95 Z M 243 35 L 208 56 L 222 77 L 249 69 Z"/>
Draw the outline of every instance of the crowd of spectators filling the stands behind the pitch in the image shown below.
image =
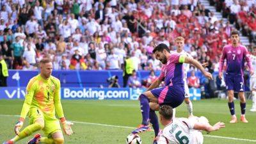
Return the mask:
<path id="1" fill-rule="evenodd" d="M 0 17 L 1 54 L 9 68 L 23 70 L 44 57 L 54 70 L 121 69 L 126 56 L 135 70 L 160 70 L 154 42 L 174 50 L 183 36 L 184 50 L 213 72 L 233 29 L 198 0 L 3 0 Z M 244 20 L 237 22 L 255 32 L 255 18 L 254 25 Z"/>

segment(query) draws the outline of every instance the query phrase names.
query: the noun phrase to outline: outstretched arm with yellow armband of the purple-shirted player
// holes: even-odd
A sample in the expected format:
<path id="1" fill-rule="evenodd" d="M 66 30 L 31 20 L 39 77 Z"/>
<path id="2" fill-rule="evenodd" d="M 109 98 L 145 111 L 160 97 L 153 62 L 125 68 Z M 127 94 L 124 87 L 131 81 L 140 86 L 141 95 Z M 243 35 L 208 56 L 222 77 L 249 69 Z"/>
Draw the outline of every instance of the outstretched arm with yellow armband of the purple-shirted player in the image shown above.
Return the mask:
<path id="1" fill-rule="evenodd" d="M 191 65 L 194 65 L 196 68 L 198 68 L 204 74 L 205 77 L 207 77 L 208 79 L 212 79 L 212 74 L 209 72 L 206 72 L 204 67 L 202 66 L 202 64 L 199 63 L 194 58 L 188 57 L 186 55 L 180 55 L 179 62 L 180 63 L 189 63 Z"/>

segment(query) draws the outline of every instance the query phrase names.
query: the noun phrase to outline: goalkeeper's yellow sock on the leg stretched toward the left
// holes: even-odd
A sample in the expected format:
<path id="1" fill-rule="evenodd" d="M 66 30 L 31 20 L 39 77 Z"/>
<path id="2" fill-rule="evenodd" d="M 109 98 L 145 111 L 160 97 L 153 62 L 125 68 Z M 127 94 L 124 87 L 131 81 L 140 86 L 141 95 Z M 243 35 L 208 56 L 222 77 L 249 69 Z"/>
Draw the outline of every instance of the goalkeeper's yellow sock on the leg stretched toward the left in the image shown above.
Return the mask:
<path id="1" fill-rule="evenodd" d="M 36 131 L 39 131 L 42 129 L 42 126 L 38 123 L 28 125 L 25 129 L 23 129 L 17 136 L 15 136 L 12 141 L 16 142 L 19 140 L 22 140 L 23 138 L 26 138 L 27 136 L 30 136 Z"/>

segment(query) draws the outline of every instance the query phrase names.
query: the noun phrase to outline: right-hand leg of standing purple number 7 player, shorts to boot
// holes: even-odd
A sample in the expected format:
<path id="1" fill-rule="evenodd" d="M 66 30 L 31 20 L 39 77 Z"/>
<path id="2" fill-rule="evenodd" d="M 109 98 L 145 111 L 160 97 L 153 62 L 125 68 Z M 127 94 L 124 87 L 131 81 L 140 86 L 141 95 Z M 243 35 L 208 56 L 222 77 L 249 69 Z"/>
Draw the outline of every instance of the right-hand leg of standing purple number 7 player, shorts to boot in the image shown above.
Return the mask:
<path id="1" fill-rule="evenodd" d="M 244 97 L 244 79 L 243 76 L 235 77 L 234 79 L 234 90 L 238 92 L 238 97 L 240 99 L 240 108 L 241 108 L 241 118 L 240 120 L 244 123 L 248 123 L 245 118 L 245 109 L 246 109 L 246 99 Z"/>

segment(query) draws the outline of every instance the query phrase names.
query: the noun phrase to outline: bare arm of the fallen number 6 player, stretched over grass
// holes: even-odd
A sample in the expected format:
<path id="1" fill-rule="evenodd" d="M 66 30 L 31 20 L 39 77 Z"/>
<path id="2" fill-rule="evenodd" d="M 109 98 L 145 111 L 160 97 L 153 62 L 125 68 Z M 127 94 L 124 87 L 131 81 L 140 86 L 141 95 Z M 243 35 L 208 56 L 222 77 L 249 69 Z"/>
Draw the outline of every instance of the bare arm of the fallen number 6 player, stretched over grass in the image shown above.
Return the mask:
<path id="1" fill-rule="evenodd" d="M 217 122 L 213 126 L 210 124 L 196 123 L 194 125 L 193 129 L 211 132 L 211 131 L 218 131 L 219 129 L 221 129 L 223 127 L 225 127 L 225 124 L 223 122 Z"/>

